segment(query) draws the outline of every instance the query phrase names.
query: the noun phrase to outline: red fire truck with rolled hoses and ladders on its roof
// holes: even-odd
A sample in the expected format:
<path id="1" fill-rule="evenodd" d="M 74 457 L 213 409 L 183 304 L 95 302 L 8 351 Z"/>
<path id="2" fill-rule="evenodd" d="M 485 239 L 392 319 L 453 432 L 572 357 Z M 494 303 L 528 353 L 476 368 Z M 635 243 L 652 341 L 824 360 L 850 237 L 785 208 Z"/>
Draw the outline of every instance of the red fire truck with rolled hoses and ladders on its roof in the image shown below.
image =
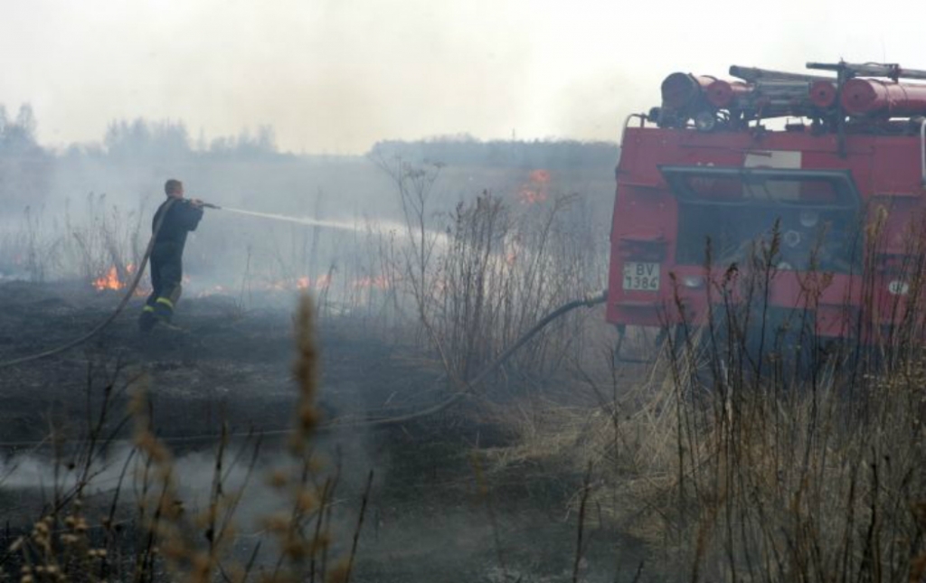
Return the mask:
<path id="1" fill-rule="evenodd" d="M 628 118 L 609 322 L 677 329 L 749 293 L 763 314 L 809 315 L 824 338 L 870 339 L 916 316 L 926 71 L 807 68 L 673 73 L 662 105 Z M 736 281 L 759 265 L 766 283 L 744 291 Z"/>

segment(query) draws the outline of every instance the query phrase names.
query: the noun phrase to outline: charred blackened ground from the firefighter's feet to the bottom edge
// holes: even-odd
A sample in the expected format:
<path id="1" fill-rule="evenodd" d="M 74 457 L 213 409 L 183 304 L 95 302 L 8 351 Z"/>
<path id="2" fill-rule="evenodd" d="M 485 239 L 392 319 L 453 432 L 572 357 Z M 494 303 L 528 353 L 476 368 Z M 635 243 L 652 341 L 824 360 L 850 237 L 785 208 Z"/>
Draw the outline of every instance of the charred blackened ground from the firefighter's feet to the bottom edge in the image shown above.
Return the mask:
<path id="1" fill-rule="evenodd" d="M 119 292 L 80 284 L 0 285 L 4 360 L 72 340 L 108 316 L 118 298 Z M 5 546 L 73 488 L 75 470 L 69 467 L 80 465 L 87 453 L 85 440 L 107 386 L 112 413 L 99 432 L 105 443 L 94 453 L 99 474 L 81 496 L 91 523 L 112 510 L 115 477 L 127 463 L 127 452 L 137 447 L 131 420 L 120 424 L 131 409 L 132 391 L 144 385 L 153 431 L 172 452 L 177 496 L 191 514 L 208 507 L 223 424 L 230 453 L 251 455 L 261 436 L 257 457 L 239 462 L 226 478 L 230 490 L 244 489 L 244 475 L 251 475 L 226 560 L 246 563 L 257 541 L 265 540 L 253 568 L 269 568 L 276 549 L 264 521 L 285 506 L 285 497 L 267 482 L 287 458 L 299 407 L 292 372 L 294 300 L 289 294 L 285 302 L 292 307 L 276 298 L 277 305 L 241 312 L 229 296 L 191 298 L 181 302 L 177 318 L 183 331 L 156 329 L 145 337 L 136 329 L 141 301 L 135 300 L 92 341 L 5 368 L 0 412 Z M 378 333 L 362 318 L 321 316 L 316 336 L 322 423 L 422 411 L 451 391 L 434 354 Z M 513 407 L 516 392 L 507 393 Z M 357 531 L 355 580 L 546 581 L 569 578 L 573 571 L 587 574 L 586 580 L 613 580 L 620 538 L 612 528 L 586 525 L 582 552 L 576 554 L 575 495 L 582 490 L 582 472 L 537 463 L 500 465 L 492 452 L 518 440 L 516 426 L 504 418 L 497 406 L 472 398 L 389 427 L 319 431 L 312 440 L 322 460 L 319 474 L 339 476 L 329 515 L 332 564 L 349 552 Z M 370 470 L 369 502 L 357 530 Z M 141 497 L 140 471 L 133 466 L 121 484 L 124 491 L 113 512 L 124 529 L 113 548 L 131 549 L 143 538 L 144 518 L 137 515 L 135 499 Z M 106 538 L 93 528 L 99 525 L 92 527 L 92 539 Z M 630 549 L 635 562 L 619 570 L 637 567 L 640 552 Z M 9 555 L 5 562 L 7 572 L 20 564 Z"/>

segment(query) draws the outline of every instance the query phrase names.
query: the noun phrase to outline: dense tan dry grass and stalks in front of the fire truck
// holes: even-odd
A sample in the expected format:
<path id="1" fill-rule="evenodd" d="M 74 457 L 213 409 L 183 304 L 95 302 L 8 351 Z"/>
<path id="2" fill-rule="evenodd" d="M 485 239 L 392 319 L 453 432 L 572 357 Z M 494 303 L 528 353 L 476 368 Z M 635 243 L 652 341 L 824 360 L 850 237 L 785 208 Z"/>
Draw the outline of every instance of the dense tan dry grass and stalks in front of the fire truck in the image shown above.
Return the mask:
<path id="1" fill-rule="evenodd" d="M 877 227 L 870 237 L 877 239 Z M 802 281 L 809 308 L 798 311 L 791 331 L 769 325 L 774 333 L 757 333 L 776 277 L 771 241 L 748 267 L 711 281 L 715 314 L 670 341 L 651 378 L 607 391 L 616 376 L 590 375 L 597 411 L 557 406 L 524 416 L 515 424 L 519 446 L 494 459 L 553 458 L 573 473 L 594 462 L 605 482 L 594 502 L 615 527 L 675 565 L 667 577 L 919 580 L 926 553 L 913 510 L 926 500 L 921 293 L 888 306 L 910 315 L 894 329 L 872 329 L 871 341 L 823 354 L 813 306 L 831 279 L 811 274 Z M 908 256 L 921 257 L 923 238 L 913 241 Z M 894 277 L 920 289 L 922 263 L 910 261 Z M 875 285 L 865 279 L 861 318 L 885 313 Z"/>

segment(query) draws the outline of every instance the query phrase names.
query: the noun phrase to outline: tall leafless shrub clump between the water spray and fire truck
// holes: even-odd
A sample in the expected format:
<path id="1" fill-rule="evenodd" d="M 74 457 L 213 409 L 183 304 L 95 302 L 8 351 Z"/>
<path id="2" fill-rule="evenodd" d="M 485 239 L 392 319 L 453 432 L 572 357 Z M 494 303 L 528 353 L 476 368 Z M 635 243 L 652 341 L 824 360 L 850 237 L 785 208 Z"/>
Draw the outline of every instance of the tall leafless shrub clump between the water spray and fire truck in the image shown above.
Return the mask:
<path id="1" fill-rule="evenodd" d="M 545 314 L 600 289 L 607 263 L 596 242 L 603 238 L 580 196 L 516 208 L 483 191 L 448 217 L 432 216 L 440 165 L 416 167 L 400 158 L 378 163 L 394 181 L 406 229 L 400 265 L 392 254 L 383 272 L 400 274 L 394 282 L 413 300 L 417 338 L 427 340 L 451 377 L 475 377 Z M 569 315 L 509 366 L 549 375 L 581 352 L 583 338 L 582 317 Z"/>

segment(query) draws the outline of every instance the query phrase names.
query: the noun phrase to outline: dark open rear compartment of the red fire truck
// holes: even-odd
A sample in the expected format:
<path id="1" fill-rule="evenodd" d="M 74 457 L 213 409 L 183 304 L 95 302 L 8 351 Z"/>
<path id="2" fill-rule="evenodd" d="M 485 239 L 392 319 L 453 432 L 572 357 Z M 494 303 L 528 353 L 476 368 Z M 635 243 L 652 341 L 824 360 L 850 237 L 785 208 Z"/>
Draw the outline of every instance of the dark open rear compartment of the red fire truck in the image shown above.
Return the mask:
<path id="1" fill-rule="evenodd" d="M 745 261 L 780 244 L 776 267 L 848 272 L 858 262 L 859 196 L 842 170 L 660 167 L 679 202 L 676 263 Z"/>

